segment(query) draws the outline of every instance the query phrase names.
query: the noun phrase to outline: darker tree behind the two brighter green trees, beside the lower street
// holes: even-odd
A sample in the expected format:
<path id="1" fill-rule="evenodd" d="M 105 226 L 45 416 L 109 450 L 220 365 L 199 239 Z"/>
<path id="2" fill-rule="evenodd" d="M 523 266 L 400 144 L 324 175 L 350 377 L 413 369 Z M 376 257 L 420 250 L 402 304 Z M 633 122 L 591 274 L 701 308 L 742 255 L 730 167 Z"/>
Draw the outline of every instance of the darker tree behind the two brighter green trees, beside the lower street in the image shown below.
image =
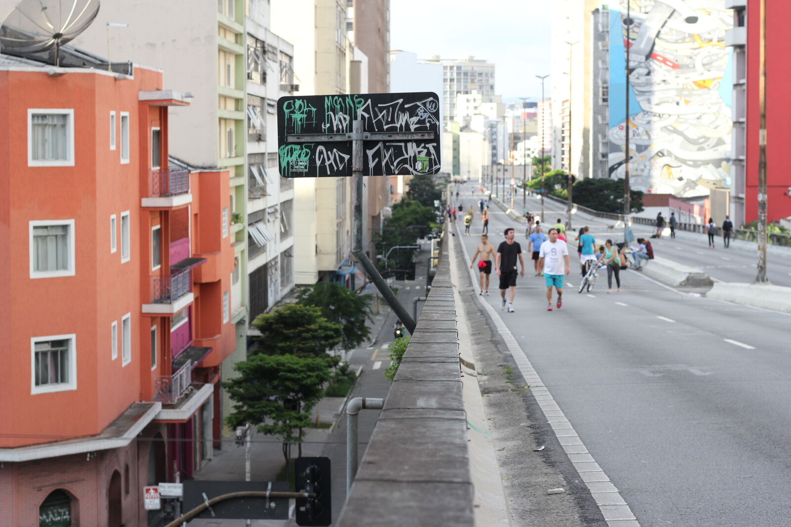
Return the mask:
<path id="1" fill-rule="evenodd" d="M 365 320 L 371 315 L 371 295 L 356 295 L 335 282 L 319 282 L 297 292 L 298 303 L 315 306 L 328 322 L 341 326 L 343 349 L 357 348 L 371 330 Z"/>

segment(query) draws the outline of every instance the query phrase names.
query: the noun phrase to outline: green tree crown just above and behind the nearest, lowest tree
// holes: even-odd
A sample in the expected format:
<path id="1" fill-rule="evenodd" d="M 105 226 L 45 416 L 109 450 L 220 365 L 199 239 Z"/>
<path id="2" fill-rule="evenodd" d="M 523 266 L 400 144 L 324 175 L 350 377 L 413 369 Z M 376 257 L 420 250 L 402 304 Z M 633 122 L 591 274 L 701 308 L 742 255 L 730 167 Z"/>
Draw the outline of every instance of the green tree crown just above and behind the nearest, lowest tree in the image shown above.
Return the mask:
<path id="1" fill-rule="evenodd" d="M 298 303 L 259 314 L 252 325 L 261 332 L 253 352 L 267 355 L 324 357 L 343 340 L 343 326 L 328 322 L 319 307 Z"/>

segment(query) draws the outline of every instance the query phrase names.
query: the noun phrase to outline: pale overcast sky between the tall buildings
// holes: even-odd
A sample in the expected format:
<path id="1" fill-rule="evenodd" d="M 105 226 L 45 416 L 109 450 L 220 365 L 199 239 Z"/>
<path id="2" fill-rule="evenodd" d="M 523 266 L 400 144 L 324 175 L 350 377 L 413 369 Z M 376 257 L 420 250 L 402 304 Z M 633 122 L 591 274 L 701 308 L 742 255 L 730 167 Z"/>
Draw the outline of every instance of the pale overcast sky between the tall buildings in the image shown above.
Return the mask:
<path id="1" fill-rule="evenodd" d="M 495 92 L 540 97 L 550 68 L 550 9 L 555 0 L 391 0 L 390 48 L 418 58 L 494 62 Z M 550 83 L 546 82 L 546 96 Z"/>

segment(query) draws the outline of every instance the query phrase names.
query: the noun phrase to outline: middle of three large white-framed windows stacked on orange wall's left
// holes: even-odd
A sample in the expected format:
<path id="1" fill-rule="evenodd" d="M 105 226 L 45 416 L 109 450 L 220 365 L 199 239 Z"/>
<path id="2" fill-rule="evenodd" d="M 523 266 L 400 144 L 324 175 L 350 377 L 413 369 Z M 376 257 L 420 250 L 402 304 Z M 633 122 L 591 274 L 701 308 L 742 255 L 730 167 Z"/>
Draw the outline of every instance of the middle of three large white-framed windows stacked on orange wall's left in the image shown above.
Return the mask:
<path id="1" fill-rule="evenodd" d="M 74 276 L 74 220 L 31 221 L 30 277 Z"/>

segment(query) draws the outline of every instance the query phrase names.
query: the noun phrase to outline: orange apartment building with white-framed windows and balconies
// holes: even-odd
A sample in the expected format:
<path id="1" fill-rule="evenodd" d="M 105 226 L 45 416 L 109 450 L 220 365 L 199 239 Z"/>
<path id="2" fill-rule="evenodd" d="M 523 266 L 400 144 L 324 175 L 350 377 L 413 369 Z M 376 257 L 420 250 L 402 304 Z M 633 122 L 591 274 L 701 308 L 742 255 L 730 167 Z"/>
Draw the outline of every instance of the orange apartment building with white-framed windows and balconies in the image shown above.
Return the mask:
<path id="1" fill-rule="evenodd" d="M 229 171 L 168 166 L 161 71 L 86 66 L 0 55 L 3 526 L 157 525 L 220 437 Z"/>

